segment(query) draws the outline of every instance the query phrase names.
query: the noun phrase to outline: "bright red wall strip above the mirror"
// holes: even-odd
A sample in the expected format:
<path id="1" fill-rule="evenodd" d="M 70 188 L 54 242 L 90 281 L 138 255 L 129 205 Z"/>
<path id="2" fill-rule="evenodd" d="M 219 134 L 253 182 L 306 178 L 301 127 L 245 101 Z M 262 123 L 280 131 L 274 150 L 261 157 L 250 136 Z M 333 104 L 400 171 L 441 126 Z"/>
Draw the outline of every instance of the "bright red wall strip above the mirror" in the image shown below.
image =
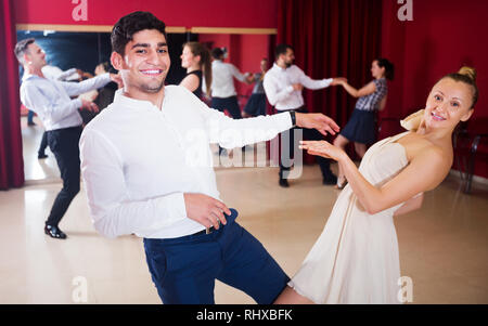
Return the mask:
<path id="1" fill-rule="evenodd" d="M 87 2 L 87 21 L 73 10 Z M 17 24 L 113 25 L 133 11 L 150 11 L 167 26 L 275 28 L 278 0 L 15 0 Z"/>

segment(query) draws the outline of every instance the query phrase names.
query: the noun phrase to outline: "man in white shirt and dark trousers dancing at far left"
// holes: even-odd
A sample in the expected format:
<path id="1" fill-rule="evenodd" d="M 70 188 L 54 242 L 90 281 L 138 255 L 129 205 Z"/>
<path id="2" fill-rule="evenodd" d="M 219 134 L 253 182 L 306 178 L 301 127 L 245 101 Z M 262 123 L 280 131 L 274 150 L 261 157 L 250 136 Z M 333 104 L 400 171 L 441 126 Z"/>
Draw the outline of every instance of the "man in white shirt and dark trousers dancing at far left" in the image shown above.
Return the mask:
<path id="1" fill-rule="evenodd" d="M 63 180 L 63 188 L 46 221 L 44 233 L 53 238 L 64 239 L 66 234 L 60 230 L 59 223 L 79 192 L 78 141 L 81 134 L 81 117 L 78 108 L 98 110 L 94 103 L 81 99 L 72 100 L 70 96 L 103 87 L 111 81 L 111 77 L 114 80 L 116 77 L 106 74 L 82 82 L 50 80 L 42 74 L 46 53 L 35 39 L 17 42 L 14 52 L 24 66 L 21 101 L 42 120 L 49 147 L 56 157 Z"/>

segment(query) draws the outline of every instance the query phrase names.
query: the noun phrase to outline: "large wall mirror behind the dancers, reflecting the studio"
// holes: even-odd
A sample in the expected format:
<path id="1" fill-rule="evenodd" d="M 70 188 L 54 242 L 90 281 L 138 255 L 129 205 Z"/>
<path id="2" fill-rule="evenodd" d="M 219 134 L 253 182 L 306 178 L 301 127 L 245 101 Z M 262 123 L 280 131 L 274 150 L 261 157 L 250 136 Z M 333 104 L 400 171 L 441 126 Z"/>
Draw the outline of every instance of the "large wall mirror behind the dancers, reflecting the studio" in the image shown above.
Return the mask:
<path id="1" fill-rule="evenodd" d="M 224 62 L 232 63 L 240 71 L 254 75 L 260 71 L 260 62 L 269 57 L 270 44 L 273 36 L 269 35 L 235 35 L 235 34 L 168 34 L 169 54 L 171 67 L 166 78 L 166 84 L 179 84 L 187 75 L 185 68 L 181 66 L 182 47 L 188 41 L 200 41 L 209 50 L 213 48 L 226 48 Z M 110 32 L 73 32 L 73 31 L 29 31 L 17 30 L 17 41 L 35 38 L 36 43 L 47 54 L 48 66 L 42 69 L 46 77 L 63 78 L 66 81 L 77 82 L 95 76 L 100 64 L 105 63 L 105 70 L 115 73 L 110 64 L 111 41 Z M 269 60 L 272 65 L 273 60 Z M 62 76 L 75 68 L 75 73 Z M 22 82 L 23 68 L 20 68 Z M 103 71 L 102 71 L 103 73 Z M 239 106 L 242 110 L 247 103 L 254 88 L 254 82 L 235 82 Z M 114 89 L 115 91 L 115 89 Z M 112 92 L 113 93 L 113 92 Z M 101 89 L 98 92 L 82 94 L 84 99 L 102 101 Z M 113 95 L 112 95 L 113 96 Z M 113 99 L 110 97 L 108 99 Z M 205 99 L 203 99 L 205 101 Z M 112 102 L 104 100 L 102 102 Z M 108 102 L 108 103 L 110 103 Z M 210 104 L 210 101 L 206 101 Z M 108 103 L 99 106 L 105 107 Z M 27 184 L 38 182 L 60 182 L 60 172 L 54 155 L 49 146 L 43 149 L 42 141 L 44 129 L 40 119 L 28 108 L 21 106 L 21 123 L 24 151 L 24 169 Z M 85 123 L 93 116 L 81 114 Z M 46 154 L 47 157 L 43 157 Z"/>

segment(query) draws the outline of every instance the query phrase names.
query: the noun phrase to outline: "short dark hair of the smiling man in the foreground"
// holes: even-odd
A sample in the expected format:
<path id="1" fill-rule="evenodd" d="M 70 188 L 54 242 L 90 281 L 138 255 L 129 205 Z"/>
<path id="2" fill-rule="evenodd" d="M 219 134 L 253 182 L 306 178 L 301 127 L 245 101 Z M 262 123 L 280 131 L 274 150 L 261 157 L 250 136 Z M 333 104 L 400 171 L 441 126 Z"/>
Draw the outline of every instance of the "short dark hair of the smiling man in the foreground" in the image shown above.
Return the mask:
<path id="1" fill-rule="evenodd" d="M 144 29 L 156 29 L 166 38 L 165 28 L 165 23 L 150 12 L 136 11 L 130 13 L 118 19 L 112 29 L 112 51 L 124 55 L 126 45 L 132 40 L 133 35 Z"/>

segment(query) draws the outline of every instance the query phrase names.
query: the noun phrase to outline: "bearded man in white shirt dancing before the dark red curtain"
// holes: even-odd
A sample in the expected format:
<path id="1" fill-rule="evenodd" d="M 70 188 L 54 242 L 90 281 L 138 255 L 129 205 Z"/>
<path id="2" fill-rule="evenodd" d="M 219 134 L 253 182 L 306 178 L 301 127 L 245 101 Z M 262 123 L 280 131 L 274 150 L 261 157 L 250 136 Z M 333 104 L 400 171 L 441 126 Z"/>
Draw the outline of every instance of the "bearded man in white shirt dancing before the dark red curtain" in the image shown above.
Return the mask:
<path id="1" fill-rule="evenodd" d="M 318 90 L 329 86 L 336 86 L 343 78 L 329 78 L 321 80 L 313 80 L 305 73 L 293 64 L 295 60 L 293 48 L 288 44 L 278 44 L 275 52 L 275 62 L 273 67 L 269 69 L 264 79 L 265 93 L 269 103 L 274 107 L 278 113 L 283 112 L 299 112 L 307 113 L 307 108 L 304 105 L 304 97 L 301 90 L 304 87 Z M 293 128 L 286 130 L 281 134 L 281 141 L 288 143 L 290 158 L 297 153 L 298 140 L 295 140 L 295 130 L 299 128 Z M 303 130 L 305 140 L 322 140 L 323 136 L 316 130 Z M 285 165 L 284 153 L 280 154 L 280 179 L 279 184 L 282 187 L 288 187 L 287 175 L 290 174 L 291 166 Z M 330 160 L 323 157 L 317 157 L 317 160 L 322 171 L 323 184 L 336 184 L 337 178 L 332 173 L 330 168 Z"/>

